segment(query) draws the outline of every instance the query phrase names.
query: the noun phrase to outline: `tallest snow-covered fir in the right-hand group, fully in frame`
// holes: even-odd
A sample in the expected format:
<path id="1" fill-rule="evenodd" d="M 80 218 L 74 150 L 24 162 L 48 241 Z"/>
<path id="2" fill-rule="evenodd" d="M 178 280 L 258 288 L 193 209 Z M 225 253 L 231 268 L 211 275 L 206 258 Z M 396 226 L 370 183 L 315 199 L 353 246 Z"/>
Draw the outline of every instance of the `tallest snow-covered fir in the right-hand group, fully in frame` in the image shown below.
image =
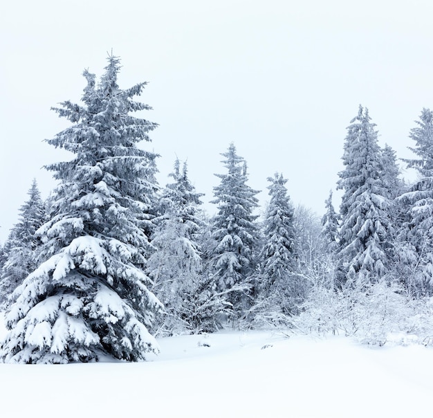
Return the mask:
<path id="1" fill-rule="evenodd" d="M 381 151 L 376 125 L 367 109 L 347 128 L 342 157 L 344 170 L 338 188 L 344 190 L 338 235 L 342 261 L 338 280 L 375 282 L 389 266 L 392 224 L 389 199 L 383 183 Z"/>

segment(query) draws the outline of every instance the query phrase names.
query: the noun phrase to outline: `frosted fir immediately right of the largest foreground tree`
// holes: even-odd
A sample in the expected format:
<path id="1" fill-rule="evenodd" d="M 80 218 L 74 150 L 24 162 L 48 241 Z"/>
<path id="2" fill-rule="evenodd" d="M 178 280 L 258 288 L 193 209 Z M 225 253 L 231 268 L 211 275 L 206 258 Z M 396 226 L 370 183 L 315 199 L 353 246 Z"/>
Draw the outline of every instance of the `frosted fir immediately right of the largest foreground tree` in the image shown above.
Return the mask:
<path id="1" fill-rule="evenodd" d="M 148 262 L 153 291 L 165 307 L 165 316 L 156 327 L 160 334 L 202 331 L 201 309 L 203 303 L 208 304 L 209 296 L 201 289 L 197 244 L 202 224 L 197 212 L 203 194 L 196 192 L 188 178 L 186 162 L 181 168 L 176 159 L 174 172 L 169 175 L 174 182 L 167 184 L 160 199 L 162 215 L 154 219 L 157 226 L 152 240 L 156 251 Z"/>

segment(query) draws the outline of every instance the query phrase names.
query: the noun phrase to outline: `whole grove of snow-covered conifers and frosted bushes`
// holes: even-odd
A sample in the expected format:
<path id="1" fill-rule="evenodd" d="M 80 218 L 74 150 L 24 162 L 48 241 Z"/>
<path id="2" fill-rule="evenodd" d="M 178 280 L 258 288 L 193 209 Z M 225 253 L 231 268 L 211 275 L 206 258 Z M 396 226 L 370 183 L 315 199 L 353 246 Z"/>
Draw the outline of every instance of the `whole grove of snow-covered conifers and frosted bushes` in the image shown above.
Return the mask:
<path id="1" fill-rule="evenodd" d="M 259 217 L 259 191 L 231 143 L 209 217 L 186 162 L 174 161 L 167 185 L 156 181 L 158 156 L 137 144 L 158 125 L 132 114 L 151 109 L 133 100 L 146 83 L 120 89 L 119 71 L 110 56 L 100 80 L 84 71 L 82 104 L 53 109 L 71 125 L 47 142 L 73 158 L 46 167 L 58 185 L 45 201 L 31 183 L 0 246 L 3 361 L 140 361 L 157 351 L 155 336 L 228 327 L 432 343 L 430 109 L 408 133 L 412 184 L 360 106 L 342 138 L 339 210 L 332 191 L 322 218 L 295 206 L 275 173 Z"/>

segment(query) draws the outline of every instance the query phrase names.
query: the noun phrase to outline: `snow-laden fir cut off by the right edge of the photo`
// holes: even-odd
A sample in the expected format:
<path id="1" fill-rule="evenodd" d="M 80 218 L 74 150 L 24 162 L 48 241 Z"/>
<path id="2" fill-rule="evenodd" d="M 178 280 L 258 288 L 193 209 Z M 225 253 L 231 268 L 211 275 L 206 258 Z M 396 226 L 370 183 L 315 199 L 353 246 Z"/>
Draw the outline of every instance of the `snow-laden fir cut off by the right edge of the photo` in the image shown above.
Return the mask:
<path id="1" fill-rule="evenodd" d="M 409 209 L 400 230 L 398 255 L 407 266 L 402 280 L 412 293 L 422 296 L 433 290 L 433 111 L 423 109 L 409 137 L 409 149 L 418 158 L 406 159 L 419 174 L 418 181 L 398 201 Z"/>

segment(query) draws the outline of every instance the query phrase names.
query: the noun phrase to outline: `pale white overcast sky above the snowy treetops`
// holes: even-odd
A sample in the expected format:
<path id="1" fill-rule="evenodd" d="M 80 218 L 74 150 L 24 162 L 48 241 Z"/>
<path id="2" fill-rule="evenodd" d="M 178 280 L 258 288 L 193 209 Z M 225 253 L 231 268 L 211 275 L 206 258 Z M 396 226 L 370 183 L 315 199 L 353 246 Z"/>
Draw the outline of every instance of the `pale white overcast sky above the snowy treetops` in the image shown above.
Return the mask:
<path id="1" fill-rule="evenodd" d="M 50 107 L 78 102 L 82 71 L 102 74 L 111 49 L 120 87 L 149 82 L 161 185 L 187 158 L 208 202 L 234 142 L 262 204 L 282 172 L 293 203 L 322 215 L 359 104 L 380 144 L 410 156 L 409 129 L 433 107 L 432 12 L 427 0 L 3 1 L 0 242 L 32 179 L 43 197 L 53 188 L 42 166 L 68 158 L 43 142 L 68 126 Z"/>

